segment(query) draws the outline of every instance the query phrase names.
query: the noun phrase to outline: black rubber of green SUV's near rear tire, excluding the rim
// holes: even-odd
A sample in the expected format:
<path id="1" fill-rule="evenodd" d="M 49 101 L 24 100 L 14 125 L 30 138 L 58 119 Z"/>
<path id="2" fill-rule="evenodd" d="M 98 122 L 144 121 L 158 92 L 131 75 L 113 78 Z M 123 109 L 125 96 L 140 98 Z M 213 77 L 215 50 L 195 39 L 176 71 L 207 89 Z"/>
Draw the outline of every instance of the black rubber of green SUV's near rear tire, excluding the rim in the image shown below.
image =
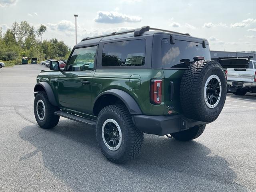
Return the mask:
<path id="1" fill-rule="evenodd" d="M 108 149 L 102 138 L 102 126 L 105 120 L 109 118 L 119 124 L 122 132 L 121 146 L 116 151 Z M 100 111 L 96 121 L 96 139 L 101 152 L 108 160 L 116 164 L 122 164 L 138 156 L 143 144 L 144 134 L 132 122 L 132 117 L 126 106 L 115 104 L 106 106 Z"/>

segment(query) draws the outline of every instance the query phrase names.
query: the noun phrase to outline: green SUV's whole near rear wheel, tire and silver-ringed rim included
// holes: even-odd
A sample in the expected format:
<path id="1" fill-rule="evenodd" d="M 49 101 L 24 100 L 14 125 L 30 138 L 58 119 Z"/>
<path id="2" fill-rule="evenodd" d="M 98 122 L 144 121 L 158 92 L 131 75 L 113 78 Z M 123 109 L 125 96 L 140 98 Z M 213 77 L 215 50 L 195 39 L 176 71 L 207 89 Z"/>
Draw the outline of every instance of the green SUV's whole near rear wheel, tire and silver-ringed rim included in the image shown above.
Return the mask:
<path id="1" fill-rule="evenodd" d="M 133 124 L 126 106 L 116 104 L 100 111 L 96 121 L 96 139 L 108 160 L 122 164 L 138 156 L 144 135 Z"/>

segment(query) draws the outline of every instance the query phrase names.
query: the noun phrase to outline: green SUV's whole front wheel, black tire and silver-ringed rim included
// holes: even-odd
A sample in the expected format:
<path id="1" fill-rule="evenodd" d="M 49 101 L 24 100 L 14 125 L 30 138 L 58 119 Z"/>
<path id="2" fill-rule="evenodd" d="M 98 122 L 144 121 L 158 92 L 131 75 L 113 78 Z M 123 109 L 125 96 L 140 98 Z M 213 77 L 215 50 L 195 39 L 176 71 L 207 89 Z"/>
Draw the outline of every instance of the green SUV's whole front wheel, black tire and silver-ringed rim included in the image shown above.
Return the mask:
<path id="1" fill-rule="evenodd" d="M 50 103 L 45 91 L 40 91 L 36 94 L 34 99 L 34 115 L 40 127 L 44 129 L 55 127 L 60 120 L 60 116 L 54 114 L 58 110 L 58 107 Z"/>

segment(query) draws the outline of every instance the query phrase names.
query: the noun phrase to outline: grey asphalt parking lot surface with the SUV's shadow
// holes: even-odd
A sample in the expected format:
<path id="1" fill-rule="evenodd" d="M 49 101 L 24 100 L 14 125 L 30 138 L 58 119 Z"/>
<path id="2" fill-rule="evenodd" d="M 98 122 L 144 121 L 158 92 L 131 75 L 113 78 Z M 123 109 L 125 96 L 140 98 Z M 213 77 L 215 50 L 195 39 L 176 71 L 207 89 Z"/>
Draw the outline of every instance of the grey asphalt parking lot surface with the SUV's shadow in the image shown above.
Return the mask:
<path id="1" fill-rule="evenodd" d="M 104 158 L 95 130 L 64 118 L 36 124 L 33 88 L 40 65 L 0 69 L 0 191 L 256 191 L 256 95 L 228 94 L 199 138 L 145 134 L 138 159 Z"/>

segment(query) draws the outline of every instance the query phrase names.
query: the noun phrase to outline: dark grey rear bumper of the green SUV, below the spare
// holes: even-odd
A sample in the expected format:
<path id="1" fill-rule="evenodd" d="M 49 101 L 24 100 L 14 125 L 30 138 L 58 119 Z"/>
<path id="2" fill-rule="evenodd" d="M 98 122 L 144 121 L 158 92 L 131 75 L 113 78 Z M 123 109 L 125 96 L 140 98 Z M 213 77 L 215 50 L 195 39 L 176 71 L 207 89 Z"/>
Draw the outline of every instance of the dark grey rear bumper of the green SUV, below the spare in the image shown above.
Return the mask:
<path id="1" fill-rule="evenodd" d="M 184 131 L 196 125 L 210 123 L 190 120 L 183 115 L 134 115 L 132 116 L 132 120 L 140 131 L 159 136 Z"/>

